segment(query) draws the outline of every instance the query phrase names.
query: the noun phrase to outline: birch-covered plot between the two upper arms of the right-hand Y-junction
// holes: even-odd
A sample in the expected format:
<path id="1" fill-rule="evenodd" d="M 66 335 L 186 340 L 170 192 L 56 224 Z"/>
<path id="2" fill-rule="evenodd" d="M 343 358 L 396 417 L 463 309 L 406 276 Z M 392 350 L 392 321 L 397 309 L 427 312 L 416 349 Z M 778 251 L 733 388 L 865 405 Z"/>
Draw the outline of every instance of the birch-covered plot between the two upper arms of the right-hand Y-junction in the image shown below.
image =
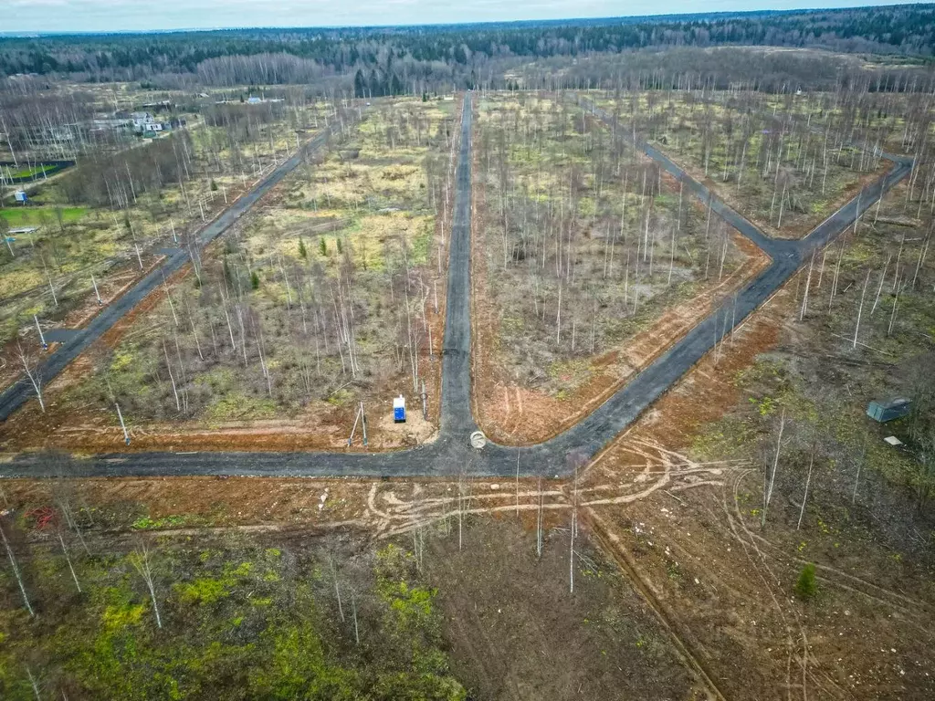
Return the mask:
<path id="1" fill-rule="evenodd" d="M 872 143 L 852 145 L 843 115 L 810 122 L 802 110 L 823 107 L 806 107 L 809 99 L 788 95 L 780 109 L 761 93 L 680 90 L 607 95 L 597 104 L 635 124 L 638 136 L 770 236 L 800 238 L 888 166 Z"/>

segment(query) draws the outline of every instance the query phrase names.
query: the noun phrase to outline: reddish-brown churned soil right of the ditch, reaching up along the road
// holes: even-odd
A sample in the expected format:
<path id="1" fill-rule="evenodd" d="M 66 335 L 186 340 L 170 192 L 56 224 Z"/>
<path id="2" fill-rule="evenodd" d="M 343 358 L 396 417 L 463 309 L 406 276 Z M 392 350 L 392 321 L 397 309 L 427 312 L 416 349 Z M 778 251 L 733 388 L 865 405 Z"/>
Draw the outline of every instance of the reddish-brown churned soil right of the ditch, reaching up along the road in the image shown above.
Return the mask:
<path id="1" fill-rule="evenodd" d="M 859 530 L 798 531 L 794 518 L 774 516 L 761 531 L 757 465 L 677 452 L 741 405 L 736 373 L 779 342 L 797 286 L 787 283 L 597 457 L 583 494 L 629 485 L 641 498 L 626 508 L 604 499 L 582 518 L 723 697 L 928 698 L 935 600 L 921 568 Z M 805 604 L 793 585 L 810 561 L 820 594 Z"/>

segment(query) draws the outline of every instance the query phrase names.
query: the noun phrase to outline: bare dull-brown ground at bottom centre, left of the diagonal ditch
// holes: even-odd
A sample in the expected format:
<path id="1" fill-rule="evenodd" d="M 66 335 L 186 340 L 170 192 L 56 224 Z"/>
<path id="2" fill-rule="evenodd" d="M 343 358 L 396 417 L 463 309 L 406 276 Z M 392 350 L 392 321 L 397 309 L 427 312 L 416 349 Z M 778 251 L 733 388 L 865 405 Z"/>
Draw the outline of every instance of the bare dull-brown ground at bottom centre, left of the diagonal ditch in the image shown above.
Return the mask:
<path id="1" fill-rule="evenodd" d="M 426 542 L 453 672 L 471 697 L 698 697 L 652 610 L 588 540 L 576 548 L 595 566 L 582 565 L 573 596 L 567 532 L 550 531 L 540 559 L 534 533 L 507 520 L 471 522 L 460 550 L 456 534 Z"/>

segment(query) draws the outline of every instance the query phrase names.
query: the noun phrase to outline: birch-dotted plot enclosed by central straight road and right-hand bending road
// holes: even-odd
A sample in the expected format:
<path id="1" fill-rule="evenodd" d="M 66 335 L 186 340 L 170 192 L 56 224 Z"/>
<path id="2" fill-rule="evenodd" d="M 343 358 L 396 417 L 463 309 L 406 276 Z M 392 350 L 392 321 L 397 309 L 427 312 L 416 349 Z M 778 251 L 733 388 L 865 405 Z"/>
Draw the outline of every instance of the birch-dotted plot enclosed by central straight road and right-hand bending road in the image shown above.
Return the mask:
<path id="1" fill-rule="evenodd" d="M 595 408 L 765 257 L 570 98 L 478 101 L 475 415 L 541 440 Z"/>

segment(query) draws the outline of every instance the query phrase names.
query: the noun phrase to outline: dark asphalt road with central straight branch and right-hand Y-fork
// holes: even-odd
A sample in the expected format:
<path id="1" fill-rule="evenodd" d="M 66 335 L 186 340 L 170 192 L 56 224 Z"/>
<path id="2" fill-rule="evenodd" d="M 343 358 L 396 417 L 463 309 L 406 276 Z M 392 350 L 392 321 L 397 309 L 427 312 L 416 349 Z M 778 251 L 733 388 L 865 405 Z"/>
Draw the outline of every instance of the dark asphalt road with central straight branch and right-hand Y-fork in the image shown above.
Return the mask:
<path id="1" fill-rule="evenodd" d="M 439 438 L 423 448 L 396 452 L 197 452 L 124 453 L 101 455 L 80 461 L 81 476 L 175 476 L 242 475 L 277 477 L 433 477 L 458 474 L 509 477 L 521 474 L 553 476 L 568 471 L 568 456 L 593 456 L 634 422 L 642 411 L 683 377 L 755 308 L 762 305 L 798 270 L 812 251 L 827 244 L 851 226 L 858 206 L 862 213 L 908 175 L 911 162 L 898 159 L 885 177 L 877 180 L 822 222 L 801 241 L 771 239 L 751 222 L 717 199 L 704 185 L 688 176 L 664 154 L 638 141 L 636 146 L 707 203 L 743 236 L 766 251 L 770 267 L 751 280 L 734 298 L 698 323 L 666 353 L 640 372 L 625 387 L 568 431 L 522 451 L 488 444 L 481 451 L 468 447 L 468 435 L 476 426 L 470 411 L 470 202 L 471 110 L 465 97 L 461 150 L 456 171 L 453 231 L 450 242 L 448 307 L 442 359 L 442 405 Z M 597 108 L 600 119 L 617 128 L 610 115 Z M 273 183 L 269 183 L 272 185 Z M 266 188 L 268 189 L 268 187 Z M 262 194 L 262 193 L 261 193 Z M 857 200 L 859 199 L 859 203 Z M 242 213 L 242 210 L 241 210 Z M 219 232 L 220 233 L 220 232 Z M 181 264 L 180 264 L 181 265 Z M 160 278 L 161 279 L 161 278 Z M 158 280 L 157 280 L 158 281 Z M 86 345 L 86 344 L 85 344 Z M 77 353 L 76 353 L 77 354 Z M 0 477 L 54 477 L 35 456 L 19 456 L 0 465 Z"/>

